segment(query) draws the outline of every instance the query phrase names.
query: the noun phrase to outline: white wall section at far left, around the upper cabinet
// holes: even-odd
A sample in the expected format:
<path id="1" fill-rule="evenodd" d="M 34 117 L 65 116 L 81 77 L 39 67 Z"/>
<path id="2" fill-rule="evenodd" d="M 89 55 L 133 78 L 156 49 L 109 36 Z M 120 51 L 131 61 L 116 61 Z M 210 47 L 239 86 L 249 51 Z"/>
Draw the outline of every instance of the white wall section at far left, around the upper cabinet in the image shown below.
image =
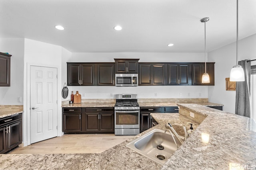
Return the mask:
<path id="1" fill-rule="evenodd" d="M 0 87 L 0 105 L 23 105 L 24 39 L 0 39 L 0 51 L 11 57 L 10 87 Z M 22 101 L 18 102 L 17 98 Z"/>

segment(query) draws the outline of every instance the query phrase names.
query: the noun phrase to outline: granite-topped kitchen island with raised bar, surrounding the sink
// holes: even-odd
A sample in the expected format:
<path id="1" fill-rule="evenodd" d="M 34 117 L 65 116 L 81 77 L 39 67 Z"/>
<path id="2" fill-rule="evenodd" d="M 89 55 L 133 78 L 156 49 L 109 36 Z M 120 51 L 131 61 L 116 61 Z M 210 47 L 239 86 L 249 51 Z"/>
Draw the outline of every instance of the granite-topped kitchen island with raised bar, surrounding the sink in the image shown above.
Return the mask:
<path id="1" fill-rule="evenodd" d="M 229 165 L 256 164 L 256 132 L 247 117 L 197 104 L 178 104 L 184 110 L 200 114 L 205 119 L 196 123 L 179 113 L 152 113 L 158 125 L 112 147 L 100 154 L 1 154 L 1 169 L 228 169 Z M 161 166 L 126 147 L 134 139 L 152 131 L 165 129 L 170 122 L 182 135 L 179 126 L 194 123 L 195 130 Z M 250 126 L 249 126 L 250 123 Z M 208 144 L 202 142 L 201 133 L 208 133 Z"/>

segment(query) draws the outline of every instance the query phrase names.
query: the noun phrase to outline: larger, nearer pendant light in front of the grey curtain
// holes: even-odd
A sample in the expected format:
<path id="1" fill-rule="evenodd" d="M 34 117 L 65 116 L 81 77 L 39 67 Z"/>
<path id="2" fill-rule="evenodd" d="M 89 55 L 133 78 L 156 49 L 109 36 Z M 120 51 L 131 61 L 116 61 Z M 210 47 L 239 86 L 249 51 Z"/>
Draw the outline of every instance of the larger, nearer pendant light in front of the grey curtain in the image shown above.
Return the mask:
<path id="1" fill-rule="evenodd" d="M 238 65 L 238 0 L 236 0 L 236 65 L 230 71 L 230 82 L 243 82 L 244 69 Z"/>

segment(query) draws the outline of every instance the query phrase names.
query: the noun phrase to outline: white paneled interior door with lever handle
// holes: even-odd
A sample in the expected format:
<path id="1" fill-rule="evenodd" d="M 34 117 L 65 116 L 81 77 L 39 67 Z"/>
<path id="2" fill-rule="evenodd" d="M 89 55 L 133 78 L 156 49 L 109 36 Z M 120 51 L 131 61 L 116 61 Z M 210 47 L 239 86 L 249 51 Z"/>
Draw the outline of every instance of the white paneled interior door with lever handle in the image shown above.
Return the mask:
<path id="1" fill-rule="evenodd" d="M 30 66 L 30 140 L 57 136 L 57 68 Z"/>

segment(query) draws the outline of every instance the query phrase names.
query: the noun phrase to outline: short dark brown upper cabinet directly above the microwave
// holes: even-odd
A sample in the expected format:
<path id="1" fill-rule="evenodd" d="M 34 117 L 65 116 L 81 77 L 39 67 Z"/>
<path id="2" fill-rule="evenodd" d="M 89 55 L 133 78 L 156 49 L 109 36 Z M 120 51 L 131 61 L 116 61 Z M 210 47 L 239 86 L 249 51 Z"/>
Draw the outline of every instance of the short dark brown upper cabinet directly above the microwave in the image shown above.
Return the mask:
<path id="1" fill-rule="evenodd" d="M 116 73 L 138 73 L 139 59 L 114 59 L 116 65 Z"/>

